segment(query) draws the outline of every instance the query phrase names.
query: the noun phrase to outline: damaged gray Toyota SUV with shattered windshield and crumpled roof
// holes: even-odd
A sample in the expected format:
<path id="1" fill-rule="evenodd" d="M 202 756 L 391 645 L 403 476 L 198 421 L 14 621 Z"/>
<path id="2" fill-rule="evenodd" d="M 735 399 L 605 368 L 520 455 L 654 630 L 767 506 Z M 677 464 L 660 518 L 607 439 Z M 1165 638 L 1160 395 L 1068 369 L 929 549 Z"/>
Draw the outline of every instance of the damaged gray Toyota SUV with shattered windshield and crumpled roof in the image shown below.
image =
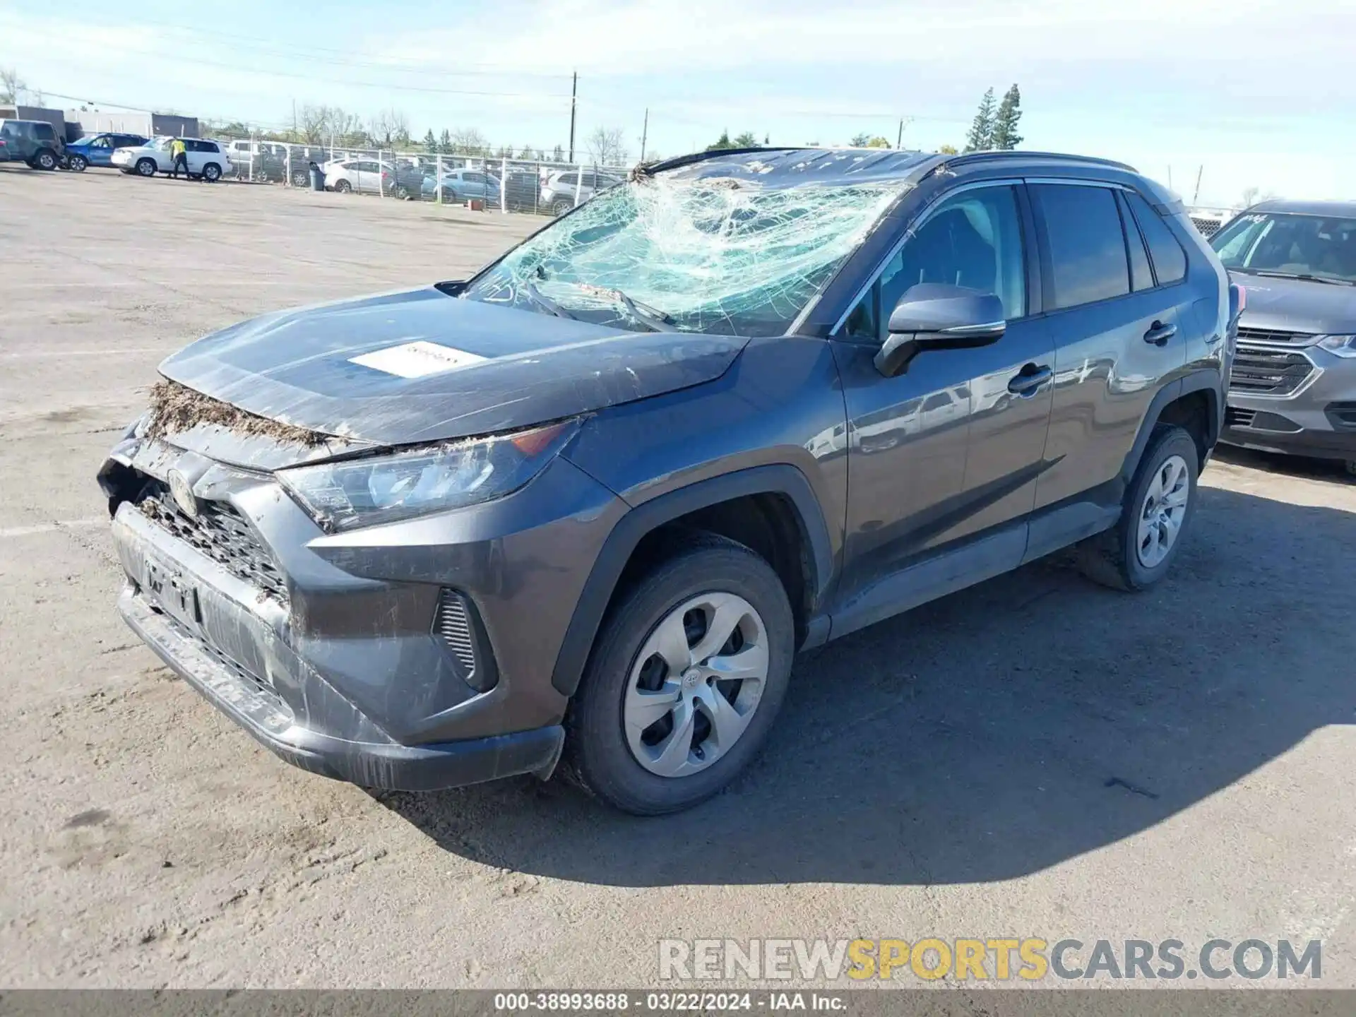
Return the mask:
<path id="1" fill-rule="evenodd" d="M 717 792 L 792 656 L 1077 545 L 1153 586 L 1237 289 L 1130 167 L 759 149 L 637 168 L 465 281 L 161 366 L 99 480 L 119 609 L 282 758 Z"/>

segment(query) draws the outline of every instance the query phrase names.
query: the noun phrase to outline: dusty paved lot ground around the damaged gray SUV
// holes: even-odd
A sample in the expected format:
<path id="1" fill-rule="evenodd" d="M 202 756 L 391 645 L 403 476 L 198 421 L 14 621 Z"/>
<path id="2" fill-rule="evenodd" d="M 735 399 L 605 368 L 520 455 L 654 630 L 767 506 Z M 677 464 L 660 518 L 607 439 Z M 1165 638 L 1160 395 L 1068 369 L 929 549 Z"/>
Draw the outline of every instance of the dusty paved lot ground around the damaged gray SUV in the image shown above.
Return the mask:
<path id="1" fill-rule="evenodd" d="M 530 778 L 369 795 L 159 667 L 94 483 L 159 359 L 537 225 L 0 168 L 0 983 L 616 986 L 662 937 L 1219 936 L 1322 938 L 1322 984 L 1356 986 L 1356 485 L 1322 465 L 1211 465 L 1151 594 L 1039 564 L 801 658 L 762 761 L 670 819 Z"/>

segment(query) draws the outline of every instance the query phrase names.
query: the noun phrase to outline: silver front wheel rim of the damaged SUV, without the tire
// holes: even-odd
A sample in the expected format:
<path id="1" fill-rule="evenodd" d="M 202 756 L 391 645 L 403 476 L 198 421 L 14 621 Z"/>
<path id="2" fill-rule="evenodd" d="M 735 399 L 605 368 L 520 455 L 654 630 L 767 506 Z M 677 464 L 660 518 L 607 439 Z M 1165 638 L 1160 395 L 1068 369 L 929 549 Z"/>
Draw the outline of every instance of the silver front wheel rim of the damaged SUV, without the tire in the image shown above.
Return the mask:
<path id="1" fill-rule="evenodd" d="M 767 682 L 767 629 L 749 601 L 706 593 L 678 605 L 641 645 L 622 724 L 636 762 L 685 777 L 725 755 Z"/>

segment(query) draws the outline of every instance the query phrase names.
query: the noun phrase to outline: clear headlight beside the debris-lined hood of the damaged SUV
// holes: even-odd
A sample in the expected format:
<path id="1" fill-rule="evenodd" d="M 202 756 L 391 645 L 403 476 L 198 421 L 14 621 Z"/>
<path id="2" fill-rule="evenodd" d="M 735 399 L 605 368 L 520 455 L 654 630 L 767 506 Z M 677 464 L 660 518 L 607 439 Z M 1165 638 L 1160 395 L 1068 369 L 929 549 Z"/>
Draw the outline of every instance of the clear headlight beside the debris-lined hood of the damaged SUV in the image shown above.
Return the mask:
<path id="1" fill-rule="evenodd" d="M 578 430 L 579 420 L 564 420 L 494 438 L 296 466 L 277 477 L 325 530 L 374 526 L 517 491 Z"/>

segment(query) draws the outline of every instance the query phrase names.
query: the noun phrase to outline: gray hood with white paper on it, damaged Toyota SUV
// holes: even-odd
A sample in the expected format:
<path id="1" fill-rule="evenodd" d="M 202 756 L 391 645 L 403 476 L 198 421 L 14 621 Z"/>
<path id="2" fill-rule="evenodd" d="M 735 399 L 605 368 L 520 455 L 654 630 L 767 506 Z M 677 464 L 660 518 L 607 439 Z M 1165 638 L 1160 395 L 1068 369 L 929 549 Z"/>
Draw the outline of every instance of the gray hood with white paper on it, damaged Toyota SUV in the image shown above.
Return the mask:
<path id="1" fill-rule="evenodd" d="M 160 373 L 259 416 L 404 445 L 713 381 L 744 342 L 625 332 L 428 286 L 243 321 L 184 347 Z"/>

